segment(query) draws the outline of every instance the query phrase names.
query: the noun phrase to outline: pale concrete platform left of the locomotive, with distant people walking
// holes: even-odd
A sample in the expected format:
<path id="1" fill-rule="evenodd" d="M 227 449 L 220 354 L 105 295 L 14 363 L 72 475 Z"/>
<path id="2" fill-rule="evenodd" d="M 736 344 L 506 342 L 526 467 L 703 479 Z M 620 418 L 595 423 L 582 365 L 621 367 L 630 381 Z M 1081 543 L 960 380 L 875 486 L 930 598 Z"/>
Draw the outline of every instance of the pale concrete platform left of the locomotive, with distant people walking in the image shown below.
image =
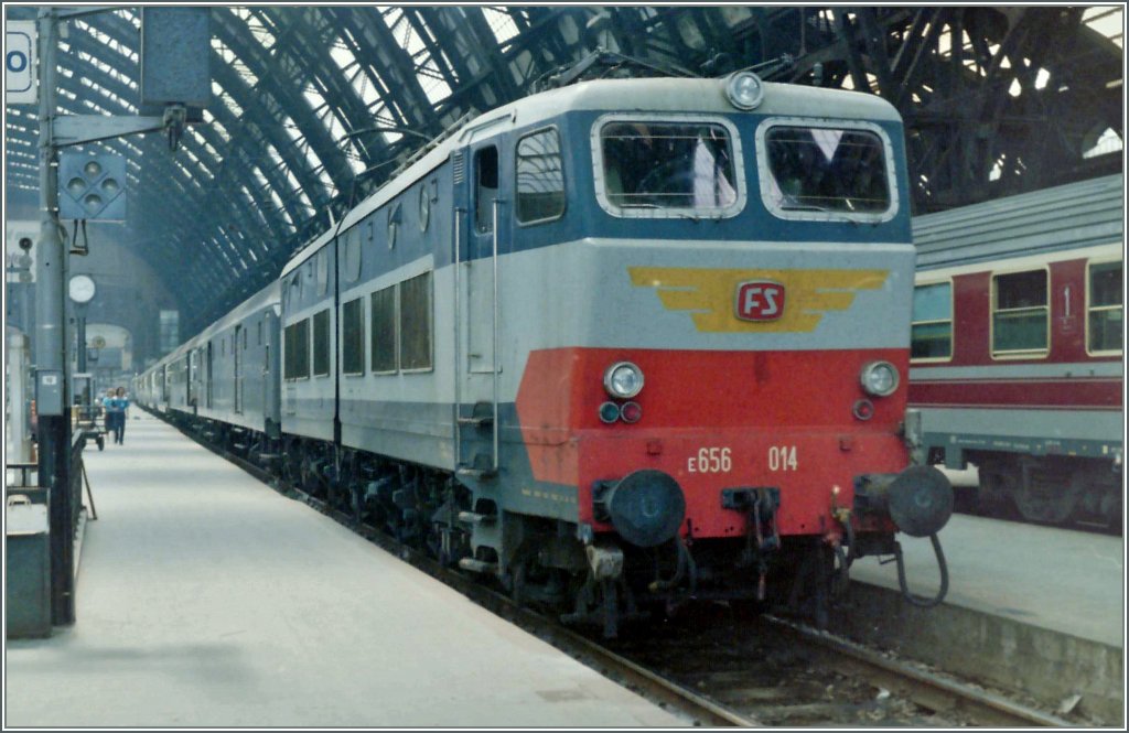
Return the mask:
<path id="1" fill-rule="evenodd" d="M 6 727 L 690 724 L 156 418 L 85 459 L 78 621 L 8 642 Z"/>

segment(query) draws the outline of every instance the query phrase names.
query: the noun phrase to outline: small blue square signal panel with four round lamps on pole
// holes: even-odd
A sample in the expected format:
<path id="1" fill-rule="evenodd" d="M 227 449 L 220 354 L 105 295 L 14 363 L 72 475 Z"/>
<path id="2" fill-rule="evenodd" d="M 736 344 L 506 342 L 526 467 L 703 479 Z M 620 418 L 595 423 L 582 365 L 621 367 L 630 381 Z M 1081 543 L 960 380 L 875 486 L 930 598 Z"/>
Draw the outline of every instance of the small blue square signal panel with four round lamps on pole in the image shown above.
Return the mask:
<path id="1" fill-rule="evenodd" d="M 125 157 L 113 152 L 59 156 L 59 218 L 125 220 Z"/>

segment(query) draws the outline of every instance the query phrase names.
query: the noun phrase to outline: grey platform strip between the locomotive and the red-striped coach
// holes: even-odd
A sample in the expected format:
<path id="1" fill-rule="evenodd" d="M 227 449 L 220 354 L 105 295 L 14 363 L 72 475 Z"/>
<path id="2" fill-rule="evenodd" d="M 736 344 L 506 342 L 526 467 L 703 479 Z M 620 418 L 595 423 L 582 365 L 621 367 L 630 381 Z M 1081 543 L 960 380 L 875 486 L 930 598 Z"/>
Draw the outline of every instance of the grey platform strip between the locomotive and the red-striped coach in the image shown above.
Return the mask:
<path id="1" fill-rule="evenodd" d="M 948 566 L 946 605 L 1124 648 L 1124 542 L 1120 536 L 954 514 L 938 533 Z M 928 539 L 899 535 L 910 591 L 939 583 Z M 861 558 L 851 578 L 898 590 L 893 562 Z"/>

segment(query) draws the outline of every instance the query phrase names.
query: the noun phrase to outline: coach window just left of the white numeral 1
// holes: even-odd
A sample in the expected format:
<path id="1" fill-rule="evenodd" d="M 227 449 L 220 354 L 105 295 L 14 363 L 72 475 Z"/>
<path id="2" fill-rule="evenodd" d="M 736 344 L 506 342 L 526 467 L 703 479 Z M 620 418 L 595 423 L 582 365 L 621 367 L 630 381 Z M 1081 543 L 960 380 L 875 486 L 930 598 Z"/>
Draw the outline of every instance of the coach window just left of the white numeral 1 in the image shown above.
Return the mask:
<path id="1" fill-rule="evenodd" d="M 1047 270 L 992 277 L 992 356 L 1047 354 L 1050 341 L 1047 277 Z"/>

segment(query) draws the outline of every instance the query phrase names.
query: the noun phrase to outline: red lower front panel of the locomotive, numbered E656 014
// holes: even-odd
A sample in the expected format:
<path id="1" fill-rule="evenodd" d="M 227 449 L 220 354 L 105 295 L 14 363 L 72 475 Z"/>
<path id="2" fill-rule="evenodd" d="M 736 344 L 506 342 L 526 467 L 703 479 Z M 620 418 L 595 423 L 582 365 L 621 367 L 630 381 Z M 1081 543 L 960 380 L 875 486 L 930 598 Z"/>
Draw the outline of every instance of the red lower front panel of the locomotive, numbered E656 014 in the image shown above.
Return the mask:
<path id="1" fill-rule="evenodd" d="M 863 366 L 877 359 L 902 375 L 887 398 L 860 385 Z M 831 513 L 852 506 L 855 477 L 905 468 L 907 359 L 900 349 L 554 349 L 531 355 L 517 410 L 534 478 L 576 486 L 581 522 L 593 521 L 595 481 L 655 469 L 682 487 L 695 538 L 745 532 L 744 517 L 721 507 L 729 488 L 778 488 L 781 534 L 838 532 Z M 605 425 L 603 374 L 621 360 L 645 375 L 634 399 L 642 419 Z M 860 400 L 873 404 L 867 420 L 854 415 Z"/>

